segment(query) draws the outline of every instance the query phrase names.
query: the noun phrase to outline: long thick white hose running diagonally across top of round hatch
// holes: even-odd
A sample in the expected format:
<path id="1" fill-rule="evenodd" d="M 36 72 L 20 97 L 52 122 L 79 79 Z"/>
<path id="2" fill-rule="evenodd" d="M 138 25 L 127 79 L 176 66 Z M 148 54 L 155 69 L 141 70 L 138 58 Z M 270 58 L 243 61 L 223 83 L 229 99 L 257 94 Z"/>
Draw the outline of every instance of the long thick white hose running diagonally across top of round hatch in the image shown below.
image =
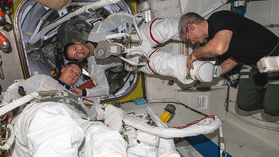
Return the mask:
<path id="1" fill-rule="evenodd" d="M 61 16 L 57 20 L 53 21 L 52 23 L 45 26 L 32 40 L 30 40 L 28 43 L 34 44 L 40 40 L 40 34 L 44 36 L 49 30 L 54 28 L 56 25 L 59 25 L 60 23 L 64 22 L 65 20 L 68 20 L 71 17 L 80 15 L 84 12 L 91 14 L 91 12 L 88 11 L 88 9 L 98 9 L 107 5 L 115 4 L 117 2 L 120 2 L 121 0 L 100 0 L 97 2 L 93 2 L 90 4 L 87 4 L 83 7 L 80 7 L 76 9 L 75 11 L 69 12 L 65 14 L 64 16 Z"/>

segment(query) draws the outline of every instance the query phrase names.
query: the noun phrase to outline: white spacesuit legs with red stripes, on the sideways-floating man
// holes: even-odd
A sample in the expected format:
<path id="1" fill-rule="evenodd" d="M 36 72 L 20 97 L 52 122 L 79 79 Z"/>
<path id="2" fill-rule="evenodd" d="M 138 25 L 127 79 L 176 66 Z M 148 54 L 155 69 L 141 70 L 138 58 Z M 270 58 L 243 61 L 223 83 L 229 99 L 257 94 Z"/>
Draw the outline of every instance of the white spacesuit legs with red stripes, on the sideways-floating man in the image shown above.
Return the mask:
<path id="1" fill-rule="evenodd" d="M 184 84 L 189 84 L 194 80 L 210 82 L 214 77 L 219 77 L 221 67 L 214 66 L 215 61 L 199 59 L 193 62 L 194 69 L 189 70 L 186 67 L 188 56 L 172 54 L 163 49 L 154 48 L 170 39 L 181 40 L 178 34 L 178 22 L 179 19 L 174 18 L 157 18 L 141 25 L 139 33 L 132 34 L 132 39 L 140 40 L 142 38 L 142 43 L 132 44 L 131 48 L 143 49 L 150 58 L 147 65 L 139 70 L 146 74 L 172 76 Z M 126 55 L 126 58 L 137 63 L 141 56 L 140 52 L 131 52 Z M 128 71 L 133 70 L 131 66 L 125 66 L 125 69 Z"/>

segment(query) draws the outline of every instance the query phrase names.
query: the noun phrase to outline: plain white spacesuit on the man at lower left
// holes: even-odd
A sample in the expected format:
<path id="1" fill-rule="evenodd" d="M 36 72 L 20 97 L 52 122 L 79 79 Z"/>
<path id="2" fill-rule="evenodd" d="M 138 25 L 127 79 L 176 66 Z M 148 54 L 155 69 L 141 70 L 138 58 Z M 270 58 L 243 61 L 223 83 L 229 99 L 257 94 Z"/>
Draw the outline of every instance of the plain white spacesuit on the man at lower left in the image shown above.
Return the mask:
<path id="1" fill-rule="evenodd" d="M 49 76 L 34 75 L 12 84 L 1 105 L 10 105 L 11 99 L 18 98 L 19 86 L 24 87 L 27 95 L 50 89 L 71 93 Z M 119 132 L 104 123 L 82 119 L 87 118 L 87 113 L 78 102 L 62 95 L 35 98 L 42 102 L 28 104 L 12 120 L 15 142 L 10 149 L 11 156 L 92 157 L 115 152 L 126 155 L 127 144 Z"/>

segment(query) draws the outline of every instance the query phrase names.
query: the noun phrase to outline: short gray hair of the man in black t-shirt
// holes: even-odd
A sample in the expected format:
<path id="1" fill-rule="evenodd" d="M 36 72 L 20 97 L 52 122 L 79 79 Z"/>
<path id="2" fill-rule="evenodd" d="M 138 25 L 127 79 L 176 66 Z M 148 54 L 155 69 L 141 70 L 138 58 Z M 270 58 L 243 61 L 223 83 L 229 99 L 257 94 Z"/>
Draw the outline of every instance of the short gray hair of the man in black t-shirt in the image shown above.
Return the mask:
<path id="1" fill-rule="evenodd" d="M 184 14 L 183 16 L 181 16 L 181 18 L 179 19 L 179 23 L 178 23 L 179 35 L 182 36 L 186 33 L 188 24 L 198 25 L 203 20 L 205 20 L 205 19 L 195 12 L 188 12 L 188 13 Z"/>

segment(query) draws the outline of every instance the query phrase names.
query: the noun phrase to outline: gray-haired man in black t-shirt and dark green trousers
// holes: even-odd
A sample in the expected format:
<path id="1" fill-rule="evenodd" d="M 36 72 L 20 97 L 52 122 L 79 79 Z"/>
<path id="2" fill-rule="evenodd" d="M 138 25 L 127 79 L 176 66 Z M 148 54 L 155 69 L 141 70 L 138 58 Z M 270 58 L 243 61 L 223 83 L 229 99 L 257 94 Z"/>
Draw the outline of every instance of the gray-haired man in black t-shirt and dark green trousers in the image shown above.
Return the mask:
<path id="1" fill-rule="evenodd" d="M 263 109 L 272 116 L 279 115 L 279 74 L 260 73 L 256 66 L 264 56 L 278 56 L 279 39 L 275 34 L 233 11 L 217 11 L 207 20 L 188 12 L 179 20 L 179 34 L 193 44 L 208 41 L 188 56 L 187 67 L 193 69 L 193 61 L 197 58 L 219 56 L 221 74 L 225 74 L 243 63 L 238 108 L 246 111 Z M 266 84 L 267 88 L 264 88 Z"/>

